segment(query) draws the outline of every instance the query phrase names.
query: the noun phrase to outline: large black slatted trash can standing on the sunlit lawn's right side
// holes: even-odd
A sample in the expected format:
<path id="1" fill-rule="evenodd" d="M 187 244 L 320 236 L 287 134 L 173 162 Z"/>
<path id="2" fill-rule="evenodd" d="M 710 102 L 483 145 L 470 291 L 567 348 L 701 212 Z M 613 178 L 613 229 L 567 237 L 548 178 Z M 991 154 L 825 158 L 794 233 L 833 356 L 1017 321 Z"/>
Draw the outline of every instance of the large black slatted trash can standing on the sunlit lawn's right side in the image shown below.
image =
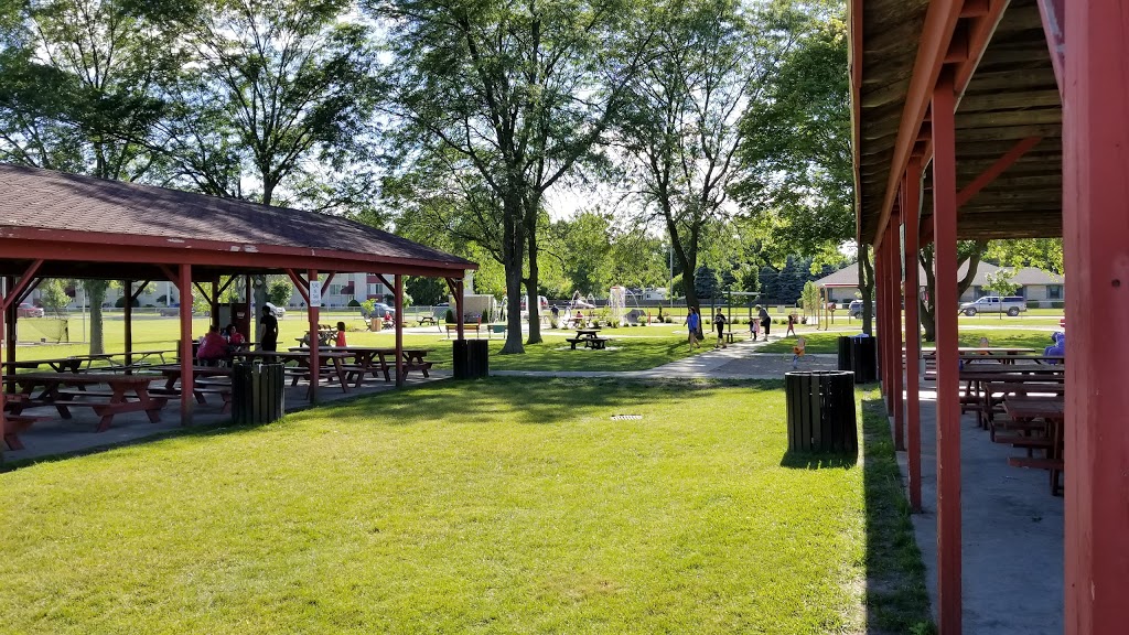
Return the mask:
<path id="1" fill-rule="evenodd" d="M 856 452 L 855 374 L 785 373 L 789 452 Z"/>

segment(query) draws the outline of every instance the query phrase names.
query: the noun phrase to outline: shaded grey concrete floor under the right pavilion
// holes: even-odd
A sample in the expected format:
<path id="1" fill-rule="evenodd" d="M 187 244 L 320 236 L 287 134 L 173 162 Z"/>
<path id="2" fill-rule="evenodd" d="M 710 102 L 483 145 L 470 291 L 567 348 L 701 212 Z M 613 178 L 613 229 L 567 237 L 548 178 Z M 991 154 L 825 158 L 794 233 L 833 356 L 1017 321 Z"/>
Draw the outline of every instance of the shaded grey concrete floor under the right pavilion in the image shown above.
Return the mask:
<path id="1" fill-rule="evenodd" d="M 930 384 L 926 384 L 930 385 Z M 936 393 L 921 391 L 921 504 L 911 516 L 937 616 Z M 971 635 L 1062 633 L 1064 502 L 1045 470 L 1013 468 L 1023 449 L 961 419 L 963 627 Z M 905 479 L 905 453 L 898 453 Z"/>

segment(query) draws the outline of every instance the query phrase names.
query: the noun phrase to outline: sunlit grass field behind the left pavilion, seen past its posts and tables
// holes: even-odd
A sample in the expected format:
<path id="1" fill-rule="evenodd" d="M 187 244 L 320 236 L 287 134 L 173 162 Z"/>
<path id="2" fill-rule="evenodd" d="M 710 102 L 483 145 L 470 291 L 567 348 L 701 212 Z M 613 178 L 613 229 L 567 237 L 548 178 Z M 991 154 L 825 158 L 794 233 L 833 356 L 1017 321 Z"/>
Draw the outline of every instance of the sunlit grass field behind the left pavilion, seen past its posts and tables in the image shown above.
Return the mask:
<path id="1" fill-rule="evenodd" d="M 393 331 L 361 330 L 365 323 L 356 315 L 330 313 L 320 321 L 335 324 L 339 320 L 345 322 L 349 330 L 347 340 L 352 346 L 395 346 Z M 34 320 L 26 321 L 34 324 Z M 207 332 L 208 324 L 208 318 L 193 319 L 193 334 L 199 338 Z M 71 328 L 71 338 L 80 338 L 81 322 L 72 318 Z M 288 314 L 279 322 L 279 349 L 297 346 L 297 340 L 308 329 L 305 315 Z M 490 367 L 501 371 L 637 371 L 654 368 L 691 355 L 686 345 L 685 328 L 680 324 L 606 329 L 604 334 L 614 341 L 605 350 L 570 350 L 564 338 L 574 337 L 575 330 L 543 329 L 542 334 L 544 341 L 527 345 L 525 355 L 500 355 L 505 342 L 499 334 L 493 334 L 490 345 Z M 103 337 L 106 351 L 125 350 L 125 323 L 121 314 L 107 316 Z M 474 339 L 475 333 L 467 331 L 466 337 Z M 478 337 L 487 339 L 485 331 Z M 175 318 L 138 315 L 133 319 L 133 350 L 173 350 L 177 338 L 178 322 Z M 443 331 L 437 327 L 409 329 L 404 334 L 404 346 L 429 349 L 428 360 L 435 362 L 439 368 L 450 369 L 452 342 L 447 339 L 445 329 Z M 20 346 L 17 349 L 17 359 L 51 359 L 85 355 L 89 350 L 88 343 Z M 695 353 L 701 350 L 698 349 Z"/>

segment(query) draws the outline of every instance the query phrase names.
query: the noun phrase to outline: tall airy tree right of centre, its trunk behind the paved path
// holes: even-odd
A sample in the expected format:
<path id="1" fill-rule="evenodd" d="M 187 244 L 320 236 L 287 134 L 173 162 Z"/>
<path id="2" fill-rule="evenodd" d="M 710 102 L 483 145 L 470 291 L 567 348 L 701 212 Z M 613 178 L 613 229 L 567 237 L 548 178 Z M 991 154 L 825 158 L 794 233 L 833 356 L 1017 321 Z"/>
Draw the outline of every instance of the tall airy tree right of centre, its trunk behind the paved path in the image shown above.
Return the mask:
<path id="1" fill-rule="evenodd" d="M 771 10 L 749 16 L 733 0 L 669 0 L 655 8 L 655 61 L 630 85 L 620 146 L 647 218 L 662 221 L 682 271 L 697 271 L 710 227 L 728 214 L 738 128 L 751 93 L 771 72 Z M 699 306 L 683 276 L 689 306 Z"/>

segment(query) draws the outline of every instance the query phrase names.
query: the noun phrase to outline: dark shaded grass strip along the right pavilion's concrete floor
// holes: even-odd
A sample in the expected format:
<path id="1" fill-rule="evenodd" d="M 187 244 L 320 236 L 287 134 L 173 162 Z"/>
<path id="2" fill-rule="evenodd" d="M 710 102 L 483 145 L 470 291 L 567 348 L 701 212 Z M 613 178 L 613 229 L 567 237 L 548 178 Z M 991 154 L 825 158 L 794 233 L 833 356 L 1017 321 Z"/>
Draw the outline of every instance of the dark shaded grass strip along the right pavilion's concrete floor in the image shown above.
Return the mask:
<path id="1" fill-rule="evenodd" d="M 867 633 L 931 634 L 936 628 L 926 568 L 910 523 L 886 408 L 877 391 L 861 394 Z"/>

